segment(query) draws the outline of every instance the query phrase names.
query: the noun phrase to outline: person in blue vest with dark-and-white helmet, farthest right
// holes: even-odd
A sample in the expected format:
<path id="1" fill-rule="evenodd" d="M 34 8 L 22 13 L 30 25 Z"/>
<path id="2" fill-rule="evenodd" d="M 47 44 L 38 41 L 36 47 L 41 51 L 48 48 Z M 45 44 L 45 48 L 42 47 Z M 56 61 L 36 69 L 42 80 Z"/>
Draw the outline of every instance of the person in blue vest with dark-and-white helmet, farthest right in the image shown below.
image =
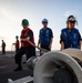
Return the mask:
<path id="1" fill-rule="evenodd" d="M 61 30 L 61 50 L 68 48 L 81 49 L 81 34 L 75 28 L 75 23 L 78 23 L 75 17 L 69 15 L 66 20 L 66 28 Z"/>

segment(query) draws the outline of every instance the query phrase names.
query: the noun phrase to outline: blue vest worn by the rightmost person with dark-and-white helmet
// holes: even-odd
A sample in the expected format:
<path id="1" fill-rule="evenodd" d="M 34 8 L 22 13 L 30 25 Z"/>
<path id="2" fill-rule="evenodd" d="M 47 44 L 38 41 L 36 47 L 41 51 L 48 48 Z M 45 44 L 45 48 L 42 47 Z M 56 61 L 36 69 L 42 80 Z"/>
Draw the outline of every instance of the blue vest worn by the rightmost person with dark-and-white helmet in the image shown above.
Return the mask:
<path id="1" fill-rule="evenodd" d="M 75 28 L 69 32 L 68 28 L 62 30 L 62 37 L 64 40 L 64 49 L 75 48 L 79 49 L 79 30 Z"/>

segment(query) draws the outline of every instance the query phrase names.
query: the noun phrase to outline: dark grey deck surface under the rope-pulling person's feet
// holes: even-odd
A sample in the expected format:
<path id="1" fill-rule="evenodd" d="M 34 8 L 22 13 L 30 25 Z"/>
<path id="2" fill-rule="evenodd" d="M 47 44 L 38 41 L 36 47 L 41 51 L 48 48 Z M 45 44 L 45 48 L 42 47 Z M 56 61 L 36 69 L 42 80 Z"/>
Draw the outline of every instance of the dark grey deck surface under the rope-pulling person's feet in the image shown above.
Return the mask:
<path id="1" fill-rule="evenodd" d="M 25 61 L 25 56 L 22 58 L 22 61 Z M 31 75 L 31 71 L 22 63 L 23 70 L 14 72 L 13 70 L 17 68 L 14 63 L 13 53 L 7 53 L 6 55 L 0 54 L 0 83 L 7 83 L 8 79 L 12 81 L 20 80 L 25 76 Z M 28 82 L 28 83 L 33 83 Z"/>

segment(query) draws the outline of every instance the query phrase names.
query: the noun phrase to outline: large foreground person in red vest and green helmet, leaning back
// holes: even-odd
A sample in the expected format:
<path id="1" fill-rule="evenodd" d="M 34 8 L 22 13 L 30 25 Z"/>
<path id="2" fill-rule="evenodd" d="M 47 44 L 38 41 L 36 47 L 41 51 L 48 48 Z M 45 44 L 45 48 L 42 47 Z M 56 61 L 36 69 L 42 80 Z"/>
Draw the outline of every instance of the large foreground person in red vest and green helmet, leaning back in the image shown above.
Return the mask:
<path id="1" fill-rule="evenodd" d="M 20 71 L 22 70 L 21 66 L 21 58 L 23 54 L 27 55 L 27 60 L 31 56 L 35 55 L 35 48 L 32 46 L 29 42 L 31 41 L 34 44 L 34 38 L 33 38 L 33 32 L 29 27 L 29 21 L 27 19 L 22 20 L 22 27 L 23 30 L 21 31 L 21 48 L 19 49 L 19 51 L 17 52 L 17 54 L 14 55 L 14 60 L 16 63 L 18 64 L 18 68 L 14 71 Z"/>

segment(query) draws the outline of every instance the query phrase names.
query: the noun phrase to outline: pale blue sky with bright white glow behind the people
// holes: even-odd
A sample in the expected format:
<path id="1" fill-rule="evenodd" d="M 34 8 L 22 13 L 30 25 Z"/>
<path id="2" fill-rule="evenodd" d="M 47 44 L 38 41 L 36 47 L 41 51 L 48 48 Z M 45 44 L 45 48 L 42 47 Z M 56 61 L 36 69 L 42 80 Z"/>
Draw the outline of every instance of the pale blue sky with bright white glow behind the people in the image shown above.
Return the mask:
<path id="1" fill-rule="evenodd" d="M 76 28 L 82 35 L 81 8 L 81 0 L 0 0 L 0 40 L 3 39 L 7 50 L 11 50 L 16 35 L 20 35 L 22 30 L 21 20 L 25 18 L 34 32 L 37 43 L 39 30 L 42 28 L 41 21 L 47 18 L 54 35 L 52 50 L 59 50 L 61 29 L 66 27 L 68 15 L 76 17 Z"/>

